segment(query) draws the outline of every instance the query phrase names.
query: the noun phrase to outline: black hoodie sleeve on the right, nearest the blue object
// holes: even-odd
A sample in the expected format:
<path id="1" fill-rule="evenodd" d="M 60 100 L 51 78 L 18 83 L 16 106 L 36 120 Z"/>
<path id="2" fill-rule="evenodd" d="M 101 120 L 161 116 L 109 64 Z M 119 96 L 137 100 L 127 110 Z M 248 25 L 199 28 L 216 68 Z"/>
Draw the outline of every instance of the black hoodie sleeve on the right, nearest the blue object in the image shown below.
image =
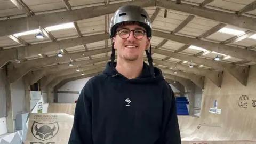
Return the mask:
<path id="1" fill-rule="evenodd" d="M 176 98 L 172 88 L 167 84 L 165 95 L 166 125 L 164 127 L 163 144 L 181 144 L 180 129 L 177 116 Z"/>

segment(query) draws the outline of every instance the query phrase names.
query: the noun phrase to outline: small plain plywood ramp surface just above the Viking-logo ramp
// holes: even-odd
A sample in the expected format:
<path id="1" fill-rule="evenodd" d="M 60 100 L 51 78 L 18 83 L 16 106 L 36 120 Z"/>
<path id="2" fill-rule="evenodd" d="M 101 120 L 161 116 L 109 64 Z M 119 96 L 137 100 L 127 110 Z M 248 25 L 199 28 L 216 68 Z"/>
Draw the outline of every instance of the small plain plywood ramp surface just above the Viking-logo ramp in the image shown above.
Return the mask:
<path id="1" fill-rule="evenodd" d="M 75 114 L 76 103 L 49 103 L 47 113 Z"/>

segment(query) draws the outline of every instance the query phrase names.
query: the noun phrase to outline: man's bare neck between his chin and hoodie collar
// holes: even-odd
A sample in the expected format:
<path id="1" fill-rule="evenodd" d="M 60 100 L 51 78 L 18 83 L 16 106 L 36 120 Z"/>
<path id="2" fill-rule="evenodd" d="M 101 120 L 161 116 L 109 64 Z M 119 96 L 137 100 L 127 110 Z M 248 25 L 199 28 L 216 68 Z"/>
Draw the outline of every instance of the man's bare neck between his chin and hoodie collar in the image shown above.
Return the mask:
<path id="1" fill-rule="evenodd" d="M 117 58 L 116 70 L 128 79 L 136 78 L 141 74 L 143 68 L 143 60 L 126 61 Z"/>

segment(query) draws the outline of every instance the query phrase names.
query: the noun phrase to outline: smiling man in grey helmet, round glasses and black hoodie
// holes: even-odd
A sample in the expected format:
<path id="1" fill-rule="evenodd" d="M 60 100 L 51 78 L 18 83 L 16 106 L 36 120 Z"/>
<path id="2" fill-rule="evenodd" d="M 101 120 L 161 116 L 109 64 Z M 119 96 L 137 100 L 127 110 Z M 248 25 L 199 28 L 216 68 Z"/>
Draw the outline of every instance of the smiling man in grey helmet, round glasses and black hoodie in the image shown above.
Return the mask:
<path id="1" fill-rule="evenodd" d="M 120 7 L 109 33 L 111 62 L 83 87 L 69 144 L 180 144 L 174 93 L 153 67 L 148 13 L 139 6 Z"/>

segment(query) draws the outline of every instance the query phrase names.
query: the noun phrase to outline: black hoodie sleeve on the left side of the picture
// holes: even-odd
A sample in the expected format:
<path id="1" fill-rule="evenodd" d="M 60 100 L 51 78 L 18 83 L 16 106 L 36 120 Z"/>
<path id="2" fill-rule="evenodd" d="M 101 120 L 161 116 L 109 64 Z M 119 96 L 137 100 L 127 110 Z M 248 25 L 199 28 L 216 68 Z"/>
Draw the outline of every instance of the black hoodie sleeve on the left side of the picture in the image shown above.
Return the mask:
<path id="1" fill-rule="evenodd" d="M 92 114 L 91 97 L 88 83 L 83 87 L 78 97 L 73 127 L 71 129 L 68 144 L 93 144 L 92 142 Z"/>

